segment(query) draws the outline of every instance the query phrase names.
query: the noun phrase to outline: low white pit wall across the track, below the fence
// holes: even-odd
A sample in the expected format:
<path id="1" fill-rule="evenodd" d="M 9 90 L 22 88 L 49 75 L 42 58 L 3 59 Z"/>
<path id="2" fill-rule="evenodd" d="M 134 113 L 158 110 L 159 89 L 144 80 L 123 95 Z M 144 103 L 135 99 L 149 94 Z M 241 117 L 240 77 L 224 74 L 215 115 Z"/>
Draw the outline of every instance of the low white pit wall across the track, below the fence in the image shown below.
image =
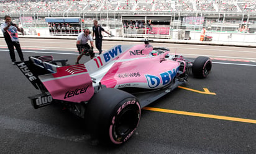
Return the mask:
<path id="1" fill-rule="evenodd" d="M 181 30 L 171 30 L 168 35 L 156 35 L 153 33 L 148 34 L 137 34 L 137 33 L 123 33 L 122 29 L 117 30 L 107 30 L 111 32 L 114 37 L 134 37 L 134 38 L 163 38 L 167 40 L 187 40 L 188 35 L 185 36 L 185 33 L 181 34 Z M 25 36 L 51 36 L 48 28 L 24 28 Z M 106 33 L 103 33 L 104 36 L 107 36 Z M 77 33 L 64 34 L 59 33 L 55 36 L 77 36 Z M 193 32 L 190 31 L 190 40 L 200 40 L 201 32 Z M 211 32 L 206 31 L 206 35 L 213 36 L 213 41 L 217 42 L 239 42 L 239 43 L 256 43 L 256 33 L 223 33 L 223 32 Z M 2 31 L 0 30 L 0 36 L 2 35 Z M 22 36 L 19 33 L 19 36 Z M 67 37 L 68 38 L 68 37 Z"/>

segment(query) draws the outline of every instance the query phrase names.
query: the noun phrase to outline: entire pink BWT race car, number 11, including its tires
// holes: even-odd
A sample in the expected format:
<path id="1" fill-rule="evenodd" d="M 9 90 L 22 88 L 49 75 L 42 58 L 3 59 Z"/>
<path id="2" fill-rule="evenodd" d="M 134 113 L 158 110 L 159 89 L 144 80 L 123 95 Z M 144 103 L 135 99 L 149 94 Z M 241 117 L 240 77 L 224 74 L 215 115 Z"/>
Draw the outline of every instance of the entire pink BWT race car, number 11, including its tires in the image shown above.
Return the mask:
<path id="1" fill-rule="evenodd" d="M 206 78 L 212 67 L 208 57 L 191 61 L 144 42 L 113 46 L 85 64 L 31 56 L 16 65 L 41 91 L 29 97 L 34 108 L 58 103 L 84 118 L 94 137 L 119 145 L 134 134 L 141 108 L 185 85 L 191 72 Z"/>

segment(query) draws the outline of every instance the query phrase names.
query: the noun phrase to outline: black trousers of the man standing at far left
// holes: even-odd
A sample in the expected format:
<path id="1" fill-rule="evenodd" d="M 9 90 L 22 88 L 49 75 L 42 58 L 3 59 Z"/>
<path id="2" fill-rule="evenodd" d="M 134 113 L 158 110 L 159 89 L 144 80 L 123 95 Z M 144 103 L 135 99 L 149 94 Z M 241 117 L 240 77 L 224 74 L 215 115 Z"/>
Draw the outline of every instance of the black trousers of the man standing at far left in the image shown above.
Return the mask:
<path id="1" fill-rule="evenodd" d="M 23 57 L 23 53 L 21 50 L 21 45 L 19 44 L 19 41 L 12 41 L 11 39 L 5 38 L 6 40 L 6 44 L 8 46 L 9 52 L 10 52 L 10 57 L 12 62 L 16 61 L 15 58 L 15 53 L 14 53 L 14 46 L 19 54 L 19 58 L 21 59 L 21 61 L 24 61 L 24 57 Z"/>

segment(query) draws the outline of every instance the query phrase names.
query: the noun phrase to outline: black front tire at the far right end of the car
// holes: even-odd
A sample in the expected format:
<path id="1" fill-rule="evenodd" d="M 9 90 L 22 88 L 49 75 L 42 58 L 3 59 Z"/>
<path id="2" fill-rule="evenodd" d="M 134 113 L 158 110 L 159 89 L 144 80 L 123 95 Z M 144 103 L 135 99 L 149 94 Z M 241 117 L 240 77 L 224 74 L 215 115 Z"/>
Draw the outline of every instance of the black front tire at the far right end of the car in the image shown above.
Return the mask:
<path id="1" fill-rule="evenodd" d="M 212 62 L 211 59 L 204 56 L 199 56 L 194 59 L 192 73 L 194 77 L 206 78 L 211 71 Z"/>

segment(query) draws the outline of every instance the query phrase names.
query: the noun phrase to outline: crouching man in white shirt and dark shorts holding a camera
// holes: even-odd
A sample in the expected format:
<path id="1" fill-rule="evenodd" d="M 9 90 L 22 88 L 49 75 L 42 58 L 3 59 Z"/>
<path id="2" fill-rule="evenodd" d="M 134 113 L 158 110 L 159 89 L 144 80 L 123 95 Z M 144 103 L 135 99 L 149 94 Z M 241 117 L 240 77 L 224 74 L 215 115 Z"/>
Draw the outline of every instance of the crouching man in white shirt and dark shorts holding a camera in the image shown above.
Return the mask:
<path id="1" fill-rule="evenodd" d="M 79 56 L 76 59 L 76 64 L 79 64 L 79 60 L 84 54 L 86 56 L 90 56 L 91 59 L 94 58 L 93 37 L 90 35 L 90 33 L 91 32 L 89 31 L 89 29 L 86 28 L 84 32 L 78 34 L 78 37 L 76 39 L 76 47 L 79 51 Z M 90 42 L 91 46 L 88 45 L 88 41 Z"/>

